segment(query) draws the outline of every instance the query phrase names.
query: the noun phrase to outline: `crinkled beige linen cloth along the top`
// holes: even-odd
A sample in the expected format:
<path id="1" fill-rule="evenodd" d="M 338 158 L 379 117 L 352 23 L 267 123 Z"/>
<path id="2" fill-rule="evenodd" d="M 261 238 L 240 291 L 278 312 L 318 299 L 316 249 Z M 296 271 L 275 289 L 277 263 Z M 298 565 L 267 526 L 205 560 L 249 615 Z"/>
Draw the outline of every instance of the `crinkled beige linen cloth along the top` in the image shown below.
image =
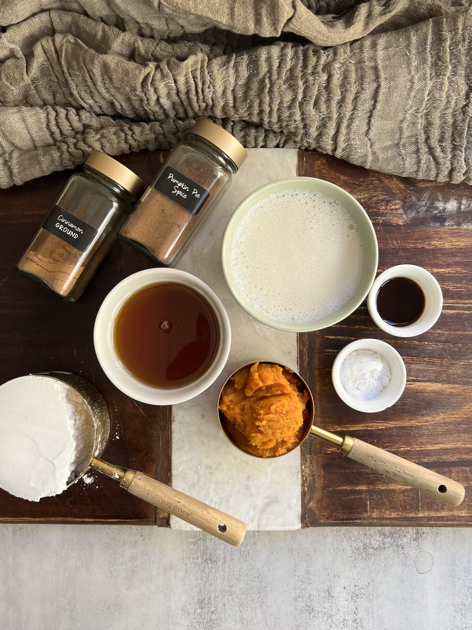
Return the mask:
<path id="1" fill-rule="evenodd" d="M 198 117 L 472 183 L 472 9 L 460 0 L 0 0 L 0 186 L 169 149 Z"/>

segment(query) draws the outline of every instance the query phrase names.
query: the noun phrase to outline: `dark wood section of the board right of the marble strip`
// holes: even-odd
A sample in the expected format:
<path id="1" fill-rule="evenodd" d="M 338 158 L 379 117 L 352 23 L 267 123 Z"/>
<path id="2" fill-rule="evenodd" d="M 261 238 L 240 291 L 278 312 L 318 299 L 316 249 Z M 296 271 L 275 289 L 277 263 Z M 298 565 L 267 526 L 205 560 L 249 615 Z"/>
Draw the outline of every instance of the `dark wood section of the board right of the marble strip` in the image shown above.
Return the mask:
<path id="1" fill-rule="evenodd" d="M 403 263 L 423 266 L 444 294 L 439 321 L 412 339 L 379 330 L 365 302 L 336 326 L 299 336 L 300 370 L 313 386 L 317 425 L 391 450 L 466 488 L 463 503 L 450 507 L 308 438 L 301 455 L 303 527 L 471 525 L 471 189 L 381 175 L 308 152 L 299 154 L 298 175 L 332 181 L 359 200 L 376 230 L 379 272 Z M 405 360 L 405 392 L 381 413 L 352 410 L 332 386 L 335 356 L 359 338 L 387 341 Z"/>

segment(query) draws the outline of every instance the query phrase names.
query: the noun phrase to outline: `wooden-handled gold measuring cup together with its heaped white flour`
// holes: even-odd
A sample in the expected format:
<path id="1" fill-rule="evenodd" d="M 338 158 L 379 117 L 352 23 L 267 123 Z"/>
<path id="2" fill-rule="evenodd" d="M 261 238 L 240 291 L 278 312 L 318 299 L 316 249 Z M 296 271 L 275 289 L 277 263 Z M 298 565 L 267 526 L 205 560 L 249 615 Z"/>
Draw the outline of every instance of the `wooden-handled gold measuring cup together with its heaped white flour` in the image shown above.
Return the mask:
<path id="1" fill-rule="evenodd" d="M 54 496 L 93 468 L 132 495 L 238 546 L 246 525 L 220 510 L 101 459 L 110 436 L 104 399 L 68 372 L 31 374 L 0 386 L 0 488 L 30 501 Z"/>

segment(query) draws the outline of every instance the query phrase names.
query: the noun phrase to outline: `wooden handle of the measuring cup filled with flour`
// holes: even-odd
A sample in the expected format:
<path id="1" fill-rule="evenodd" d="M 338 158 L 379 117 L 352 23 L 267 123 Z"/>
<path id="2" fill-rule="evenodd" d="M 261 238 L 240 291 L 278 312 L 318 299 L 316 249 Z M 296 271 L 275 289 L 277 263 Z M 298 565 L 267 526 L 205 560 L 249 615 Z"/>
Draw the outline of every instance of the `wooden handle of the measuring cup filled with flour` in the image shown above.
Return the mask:
<path id="1" fill-rule="evenodd" d="M 184 495 L 183 492 L 174 490 L 143 473 L 135 473 L 128 485 L 130 473 L 135 473 L 135 471 L 126 471 L 121 486 L 132 495 L 186 520 L 208 534 L 229 542 L 230 545 L 237 547 L 242 543 L 247 529 L 247 525 L 242 520 L 220 512 L 191 496 Z"/>

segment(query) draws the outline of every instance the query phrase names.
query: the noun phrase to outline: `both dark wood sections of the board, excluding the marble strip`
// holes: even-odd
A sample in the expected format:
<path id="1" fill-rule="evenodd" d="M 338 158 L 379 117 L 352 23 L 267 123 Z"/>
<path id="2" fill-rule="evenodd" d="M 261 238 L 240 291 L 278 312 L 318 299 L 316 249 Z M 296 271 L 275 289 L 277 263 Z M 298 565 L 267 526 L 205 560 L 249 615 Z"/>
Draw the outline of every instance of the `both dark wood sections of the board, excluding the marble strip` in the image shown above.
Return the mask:
<path id="1" fill-rule="evenodd" d="M 160 152 L 121 156 L 146 183 L 162 162 Z M 393 340 L 376 328 L 365 303 L 337 326 L 299 336 L 301 373 L 317 399 L 318 425 L 412 459 L 466 486 L 451 508 L 365 469 L 315 438 L 301 452 L 302 526 L 471 525 L 472 193 L 380 175 L 338 159 L 299 152 L 298 174 L 333 181 L 368 211 L 379 241 L 379 271 L 403 262 L 425 266 L 444 292 L 436 326 L 414 340 Z M 65 370 L 93 382 L 110 409 L 111 440 L 103 457 L 164 483 L 171 478 L 171 415 L 135 403 L 106 379 L 93 349 L 98 307 L 115 284 L 151 266 L 120 239 L 75 304 L 64 302 L 14 270 L 70 171 L 0 191 L 0 382 L 30 372 Z M 336 353 L 349 341 L 375 337 L 391 343 L 407 365 L 407 388 L 380 414 L 348 408 L 330 383 Z M 40 503 L 0 490 L 0 522 L 130 523 L 168 525 L 166 513 L 128 495 L 112 479 L 92 473 Z"/>

